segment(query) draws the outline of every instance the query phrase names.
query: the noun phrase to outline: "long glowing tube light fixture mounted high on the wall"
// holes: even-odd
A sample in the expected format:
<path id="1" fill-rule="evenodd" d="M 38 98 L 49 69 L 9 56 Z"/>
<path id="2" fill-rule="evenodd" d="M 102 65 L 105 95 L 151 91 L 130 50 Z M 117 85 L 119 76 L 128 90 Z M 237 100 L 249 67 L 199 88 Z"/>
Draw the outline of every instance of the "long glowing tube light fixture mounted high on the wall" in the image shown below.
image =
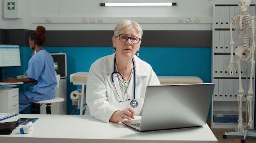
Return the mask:
<path id="1" fill-rule="evenodd" d="M 177 6 L 177 2 L 100 3 L 100 6 Z"/>

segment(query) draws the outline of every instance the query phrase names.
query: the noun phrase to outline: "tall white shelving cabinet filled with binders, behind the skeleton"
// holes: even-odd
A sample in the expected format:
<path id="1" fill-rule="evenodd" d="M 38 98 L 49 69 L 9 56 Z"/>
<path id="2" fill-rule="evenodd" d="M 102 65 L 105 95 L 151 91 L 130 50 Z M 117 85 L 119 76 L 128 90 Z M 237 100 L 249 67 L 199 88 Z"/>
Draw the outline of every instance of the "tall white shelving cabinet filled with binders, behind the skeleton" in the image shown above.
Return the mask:
<path id="1" fill-rule="evenodd" d="M 255 16 L 255 4 L 251 4 L 247 13 Z M 238 56 L 234 56 L 234 65 L 236 73 L 234 76 L 229 75 L 230 62 L 230 20 L 232 17 L 240 14 L 238 4 L 214 4 L 213 5 L 213 30 L 212 30 L 212 82 L 215 83 L 213 92 L 212 108 L 211 108 L 211 128 L 238 128 L 237 120 L 232 119 L 238 117 L 238 66 L 236 61 Z M 235 42 L 234 51 L 237 46 L 243 46 L 243 39 L 234 38 L 234 24 L 233 24 L 233 40 Z M 250 39 L 249 44 L 252 43 Z M 254 56 L 255 59 L 255 56 Z M 246 112 L 246 94 L 249 87 L 249 76 L 251 71 L 251 64 L 241 63 L 242 84 L 245 94 L 243 96 L 242 111 Z M 248 73 L 246 73 L 248 71 Z M 254 67 L 255 71 L 255 67 Z M 255 74 L 255 73 L 254 73 Z M 248 77 L 248 80 L 246 80 Z M 253 77 L 253 84 L 255 83 L 255 75 Z M 246 83 L 248 81 L 248 83 Z M 253 85 L 255 93 L 255 84 Z M 253 112 L 254 120 L 254 98 L 253 98 Z M 247 124 L 246 116 L 244 124 Z"/>

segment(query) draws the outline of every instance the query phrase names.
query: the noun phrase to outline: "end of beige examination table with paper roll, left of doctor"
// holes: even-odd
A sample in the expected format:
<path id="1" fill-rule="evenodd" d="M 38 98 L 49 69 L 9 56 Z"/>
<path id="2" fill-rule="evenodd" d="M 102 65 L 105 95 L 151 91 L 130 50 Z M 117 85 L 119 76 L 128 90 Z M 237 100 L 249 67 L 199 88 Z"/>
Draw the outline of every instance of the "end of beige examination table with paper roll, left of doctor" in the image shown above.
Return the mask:
<path id="1" fill-rule="evenodd" d="M 78 109 L 80 108 L 80 115 L 83 115 L 83 103 L 84 103 L 84 95 L 85 95 L 85 85 L 88 78 L 88 72 L 76 72 L 74 74 L 70 74 L 70 82 L 73 82 L 73 85 L 82 85 L 81 89 L 73 91 L 73 93 L 70 94 L 70 98 L 72 100 L 78 101 Z M 76 96 L 74 96 L 77 95 Z M 77 99 L 76 99 L 77 98 Z"/>

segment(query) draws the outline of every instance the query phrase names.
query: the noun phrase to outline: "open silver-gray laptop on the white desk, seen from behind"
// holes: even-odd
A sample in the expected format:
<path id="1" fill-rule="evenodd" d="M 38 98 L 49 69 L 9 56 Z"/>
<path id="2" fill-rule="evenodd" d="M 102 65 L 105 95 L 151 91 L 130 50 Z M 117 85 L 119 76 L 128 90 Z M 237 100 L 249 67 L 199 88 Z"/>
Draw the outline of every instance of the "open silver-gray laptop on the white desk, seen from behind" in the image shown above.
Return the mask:
<path id="1" fill-rule="evenodd" d="M 148 86 L 141 119 L 123 123 L 138 131 L 203 126 L 214 83 Z"/>

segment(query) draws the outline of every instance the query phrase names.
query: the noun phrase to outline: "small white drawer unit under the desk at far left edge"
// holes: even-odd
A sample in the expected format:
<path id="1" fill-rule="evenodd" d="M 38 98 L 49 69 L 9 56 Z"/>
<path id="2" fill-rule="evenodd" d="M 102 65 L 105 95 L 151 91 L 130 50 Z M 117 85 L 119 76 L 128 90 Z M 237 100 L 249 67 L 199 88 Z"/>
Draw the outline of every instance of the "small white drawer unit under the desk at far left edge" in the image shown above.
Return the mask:
<path id="1" fill-rule="evenodd" d="M 0 90 L 0 113 L 19 113 L 19 89 Z"/>

